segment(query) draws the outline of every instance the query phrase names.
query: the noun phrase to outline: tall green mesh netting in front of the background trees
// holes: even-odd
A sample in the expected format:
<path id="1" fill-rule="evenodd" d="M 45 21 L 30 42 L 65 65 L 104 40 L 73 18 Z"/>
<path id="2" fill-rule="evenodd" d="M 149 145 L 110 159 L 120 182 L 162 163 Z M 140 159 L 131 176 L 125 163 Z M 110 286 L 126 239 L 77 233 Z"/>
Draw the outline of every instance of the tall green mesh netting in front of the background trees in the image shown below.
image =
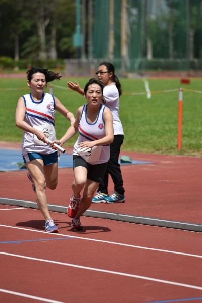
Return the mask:
<path id="1" fill-rule="evenodd" d="M 201 11 L 201 0 L 94 0 L 93 58 L 109 60 L 111 31 L 119 68 L 194 69 L 202 58 Z"/>

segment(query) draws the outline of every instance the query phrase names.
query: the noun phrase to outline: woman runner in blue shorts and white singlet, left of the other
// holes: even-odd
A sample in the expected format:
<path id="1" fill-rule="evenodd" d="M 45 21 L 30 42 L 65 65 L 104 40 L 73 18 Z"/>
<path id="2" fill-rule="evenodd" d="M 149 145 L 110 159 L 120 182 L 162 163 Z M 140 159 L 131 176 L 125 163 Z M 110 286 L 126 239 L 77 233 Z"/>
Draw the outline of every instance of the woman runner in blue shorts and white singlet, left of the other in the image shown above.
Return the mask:
<path id="1" fill-rule="evenodd" d="M 58 232 L 49 214 L 46 186 L 55 189 L 58 184 L 59 151 L 48 145 L 46 138 L 56 139 L 55 111 L 57 110 L 71 125 L 74 115 L 52 94 L 44 92 L 48 82 L 60 80 L 58 73 L 32 67 L 27 71 L 27 85 L 31 92 L 21 96 L 16 108 L 16 126 L 22 129 L 22 155 L 28 169 L 28 178 L 36 195 L 36 202 L 45 218 L 45 230 Z"/>

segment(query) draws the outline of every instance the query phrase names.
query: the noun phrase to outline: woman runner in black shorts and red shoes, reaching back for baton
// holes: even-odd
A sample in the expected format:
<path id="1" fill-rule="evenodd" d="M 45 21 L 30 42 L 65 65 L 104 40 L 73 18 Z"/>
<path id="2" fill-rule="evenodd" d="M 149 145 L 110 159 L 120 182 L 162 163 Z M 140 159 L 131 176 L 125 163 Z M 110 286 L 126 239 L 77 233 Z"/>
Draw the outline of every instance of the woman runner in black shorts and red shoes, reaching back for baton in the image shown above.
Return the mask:
<path id="1" fill-rule="evenodd" d="M 94 78 L 90 79 L 84 88 L 84 97 L 87 104 L 78 108 L 74 125 L 69 127 L 60 140 L 53 141 L 62 146 L 79 132 L 73 149 L 73 196 L 68 207 L 68 216 L 72 218 L 71 227 L 74 230 L 84 229 L 80 216 L 92 204 L 93 195 L 110 158 L 109 144 L 113 142 L 114 137 L 112 113 L 101 104 L 103 83 Z"/>

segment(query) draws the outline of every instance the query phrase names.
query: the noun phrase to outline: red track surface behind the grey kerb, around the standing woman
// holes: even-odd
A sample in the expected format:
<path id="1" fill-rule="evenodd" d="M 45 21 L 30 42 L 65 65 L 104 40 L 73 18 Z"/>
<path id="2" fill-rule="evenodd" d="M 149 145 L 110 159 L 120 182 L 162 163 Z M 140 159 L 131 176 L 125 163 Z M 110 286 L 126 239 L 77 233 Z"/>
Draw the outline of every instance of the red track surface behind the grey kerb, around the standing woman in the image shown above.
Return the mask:
<path id="1" fill-rule="evenodd" d="M 21 144 L 0 142 L 1 148 Z M 72 148 L 66 148 L 71 154 Z M 91 210 L 202 224 L 202 158 L 121 152 L 133 160 L 154 164 L 122 165 L 126 202 L 92 204 Z M 48 204 L 67 206 L 72 195 L 73 169 L 59 169 L 56 190 L 47 189 Z M 1 197 L 35 201 L 27 171 L 0 173 Z M 15 185 L 15 186 L 14 186 Z M 109 194 L 113 192 L 110 179 Z"/>

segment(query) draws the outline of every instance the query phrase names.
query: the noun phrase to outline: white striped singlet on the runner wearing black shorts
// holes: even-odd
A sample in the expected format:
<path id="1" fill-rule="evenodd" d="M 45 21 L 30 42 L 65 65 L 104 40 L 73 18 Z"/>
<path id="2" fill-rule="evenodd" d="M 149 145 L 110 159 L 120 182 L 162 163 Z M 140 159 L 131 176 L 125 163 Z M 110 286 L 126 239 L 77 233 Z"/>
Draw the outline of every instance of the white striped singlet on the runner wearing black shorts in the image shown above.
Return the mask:
<path id="1" fill-rule="evenodd" d="M 105 137 L 105 124 L 103 122 L 103 111 L 106 106 L 101 105 L 100 110 L 97 116 L 97 120 L 94 123 L 89 123 L 87 121 L 87 104 L 83 106 L 81 113 L 81 118 L 79 120 L 79 137 L 74 144 L 74 149 L 72 155 L 78 155 L 77 150 L 79 148 L 78 143 L 83 141 L 94 141 L 99 140 Z M 100 164 L 108 162 L 110 158 L 110 145 L 101 146 L 102 150 L 100 153 L 99 161 L 90 163 L 90 164 Z"/>

